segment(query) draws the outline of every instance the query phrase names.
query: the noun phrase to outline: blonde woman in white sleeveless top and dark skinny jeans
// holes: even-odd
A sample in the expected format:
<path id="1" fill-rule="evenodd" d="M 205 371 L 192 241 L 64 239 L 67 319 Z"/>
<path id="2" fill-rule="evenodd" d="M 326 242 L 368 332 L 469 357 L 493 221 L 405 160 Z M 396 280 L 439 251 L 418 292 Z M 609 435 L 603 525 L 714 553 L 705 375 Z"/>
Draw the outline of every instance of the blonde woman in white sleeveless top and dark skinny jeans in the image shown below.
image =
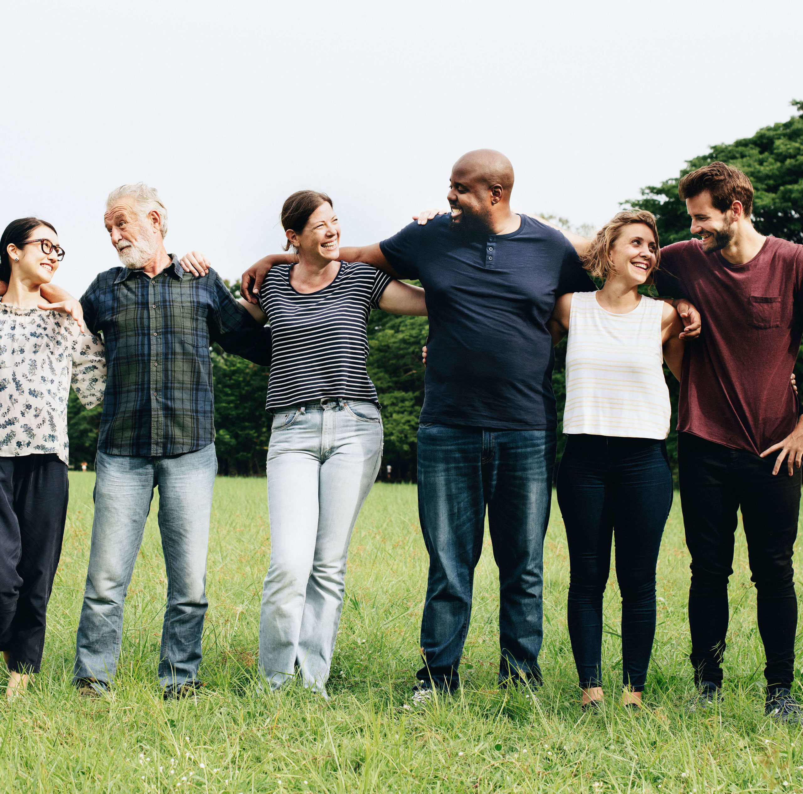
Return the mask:
<path id="1" fill-rule="evenodd" d="M 626 706 L 641 705 L 655 634 L 655 567 L 672 504 L 666 457 L 669 391 L 683 360 L 683 322 L 665 301 L 640 295 L 658 267 L 658 230 L 649 212 L 620 212 L 597 233 L 585 268 L 605 280 L 597 293 L 561 296 L 553 338 L 569 334 L 569 436 L 557 498 L 569 542 L 569 637 L 581 706 L 599 706 L 602 595 L 616 538 L 622 593 L 622 677 Z"/>

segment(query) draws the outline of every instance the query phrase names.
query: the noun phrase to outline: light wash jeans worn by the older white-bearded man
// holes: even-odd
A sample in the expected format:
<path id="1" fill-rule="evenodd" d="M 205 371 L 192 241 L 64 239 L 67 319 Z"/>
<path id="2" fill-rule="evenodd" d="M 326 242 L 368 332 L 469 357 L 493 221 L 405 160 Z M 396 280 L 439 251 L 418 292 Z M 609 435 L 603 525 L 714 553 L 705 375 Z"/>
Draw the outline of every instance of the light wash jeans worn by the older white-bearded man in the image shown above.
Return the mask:
<path id="1" fill-rule="evenodd" d="M 206 548 L 218 460 L 214 444 L 177 457 L 98 452 L 95 520 L 78 624 L 73 679 L 111 683 L 120 657 L 123 603 L 140 550 L 153 489 L 159 488 L 159 531 L 167 569 L 161 632 L 162 688 L 197 681 L 206 614 Z"/>

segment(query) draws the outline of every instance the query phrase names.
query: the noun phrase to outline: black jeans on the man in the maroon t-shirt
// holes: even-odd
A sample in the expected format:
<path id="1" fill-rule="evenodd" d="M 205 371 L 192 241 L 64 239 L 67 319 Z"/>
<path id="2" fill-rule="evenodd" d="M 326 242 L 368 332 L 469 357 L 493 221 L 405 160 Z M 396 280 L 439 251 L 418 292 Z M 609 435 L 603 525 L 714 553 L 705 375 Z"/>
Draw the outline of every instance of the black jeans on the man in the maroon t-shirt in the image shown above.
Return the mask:
<path id="1" fill-rule="evenodd" d="M 801 471 L 772 476 L 778 453 L 760 458 L 680 433 L 678 463 L 686 545 L 691 553 L 689 626 L 695 684 L 722 684 L 728 632 L 728 578 L 733 573 L 736 512 L 741 508 L 758 630 L 769 690 L 792 686 L 797 599 L 792 551 L 797 538 Z"/>

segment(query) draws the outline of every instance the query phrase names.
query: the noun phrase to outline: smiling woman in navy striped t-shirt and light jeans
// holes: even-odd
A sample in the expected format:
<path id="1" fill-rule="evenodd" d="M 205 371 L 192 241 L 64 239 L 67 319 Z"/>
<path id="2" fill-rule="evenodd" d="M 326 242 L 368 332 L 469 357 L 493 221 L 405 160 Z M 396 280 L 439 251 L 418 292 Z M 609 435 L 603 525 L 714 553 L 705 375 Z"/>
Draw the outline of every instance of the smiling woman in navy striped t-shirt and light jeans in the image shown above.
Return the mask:
<path id="1" fill-rule="evenodd" d="M 241 301 L 270 322 L 272 342 L 271 564 L 259 666 L 274 689 L 298 668 L 304 686 L 325 697 L 349 538 L 382 456 L 377 391 L 365 370 L 369 313 L 426 316 L 426 304 L 420 287 L 339 260 L 340 226 L 326 194 L 292 194 L 282 226 L 298 262 L 275 264 L 259 309 Z"/>

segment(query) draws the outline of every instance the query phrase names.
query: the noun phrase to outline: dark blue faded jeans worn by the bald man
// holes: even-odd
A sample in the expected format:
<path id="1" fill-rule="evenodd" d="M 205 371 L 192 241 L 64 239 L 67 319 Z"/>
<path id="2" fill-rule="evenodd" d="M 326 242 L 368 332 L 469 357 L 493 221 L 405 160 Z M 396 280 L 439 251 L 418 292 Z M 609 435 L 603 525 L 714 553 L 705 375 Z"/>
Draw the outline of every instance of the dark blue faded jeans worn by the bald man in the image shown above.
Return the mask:
<path id="1" fill-rule="evenodd" d="M 485 508 L 499 567 L 499 681 L 540 681 L 544 534 L 553 430 L 418 428 L 418 512 L 430 573 L 419 681 L 453 691 L 471 618 Z"/>

